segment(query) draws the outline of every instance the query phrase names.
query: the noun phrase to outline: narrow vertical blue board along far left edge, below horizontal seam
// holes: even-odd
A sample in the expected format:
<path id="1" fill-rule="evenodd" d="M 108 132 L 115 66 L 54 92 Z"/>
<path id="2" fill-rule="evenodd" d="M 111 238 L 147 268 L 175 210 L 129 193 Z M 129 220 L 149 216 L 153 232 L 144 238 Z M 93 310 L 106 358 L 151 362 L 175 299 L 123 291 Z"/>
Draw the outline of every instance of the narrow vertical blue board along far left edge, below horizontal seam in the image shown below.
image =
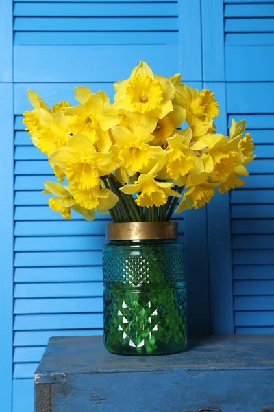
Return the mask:
<path id="1" fill-rule="evenodd" d="M 7 5 L 8 7 L 8 5 Z M 1 11 L 1 8 L 0 8 Z M 0 17 L 1 25 L 1 17 Z M 0 29 L 1 31 L 1 29 Z M 0 68 L 1 71 L 1 68 Z M 2 71 L 3 73 L 3 71 Z M 12 409 L 13 322 L 13 87 L 0 83 L 0 122 L 4 136 L 0 161 L 0 365 L 5 385 L 0 385 L 2 408 Z"/>

